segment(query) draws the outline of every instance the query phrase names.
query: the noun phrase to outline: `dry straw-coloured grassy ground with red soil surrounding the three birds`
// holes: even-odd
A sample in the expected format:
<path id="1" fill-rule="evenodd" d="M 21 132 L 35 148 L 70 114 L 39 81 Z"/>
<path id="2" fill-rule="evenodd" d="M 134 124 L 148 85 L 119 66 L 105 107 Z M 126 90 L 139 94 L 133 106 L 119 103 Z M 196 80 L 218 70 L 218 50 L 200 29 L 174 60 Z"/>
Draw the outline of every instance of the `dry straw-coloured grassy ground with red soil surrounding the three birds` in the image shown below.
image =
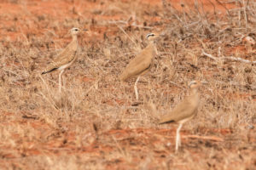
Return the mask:
<path id="1" fill-rule="evenodd" d="M 7 32 L 0 42 L 1 169 L 256 168 L 256 44 L 246 40 L 256 40 L 255 1 L 209 1 L 206 8 L 201 1 L 63 2 L 66 18 L 57 10 L 59 18 L 32 10 L 26 17 L 0 15 L 12 20 L 1 28 Z M 59 94 L 58 73 L 40 71 L 65 47 L 73 26 L 90 31 L 79 37 L 79 59 L 63 74 Z M 137 102 L 134 79 L 121 83 L 118 76 L 150 31 L 165 37 L 138 82 Z M 193 79 L 207 85 L 175 155 L 176 126 L 157 121 Z"/>

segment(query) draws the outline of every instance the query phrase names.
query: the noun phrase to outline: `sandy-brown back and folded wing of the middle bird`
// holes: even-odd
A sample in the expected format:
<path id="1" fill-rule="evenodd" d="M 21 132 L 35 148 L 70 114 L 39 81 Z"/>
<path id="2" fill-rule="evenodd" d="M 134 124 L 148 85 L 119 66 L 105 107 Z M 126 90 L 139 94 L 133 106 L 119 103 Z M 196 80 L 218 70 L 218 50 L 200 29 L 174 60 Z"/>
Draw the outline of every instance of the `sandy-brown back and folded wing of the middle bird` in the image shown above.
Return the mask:
<path id="1" fill-rule="evenodd" d="M 125 67 L 125 70 L 120 75 L 120 80 L 125 81 L 130 77 L 135 77 L 146 71 L 154 58 L 154 44 L 149 44 L 140 54 Z"/>

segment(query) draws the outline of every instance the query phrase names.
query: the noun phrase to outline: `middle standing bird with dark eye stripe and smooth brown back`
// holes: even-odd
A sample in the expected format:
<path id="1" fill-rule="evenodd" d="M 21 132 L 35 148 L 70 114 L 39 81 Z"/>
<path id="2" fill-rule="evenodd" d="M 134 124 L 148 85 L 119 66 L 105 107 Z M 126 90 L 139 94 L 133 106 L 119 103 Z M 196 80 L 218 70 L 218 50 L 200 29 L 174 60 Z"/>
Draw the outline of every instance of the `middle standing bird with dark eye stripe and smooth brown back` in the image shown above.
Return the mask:
<path id="1" fill-rule="evenodd" d="M 134 59 L 131 59 L 130 63 L 125 67 L 125 70 L 119 77 L 121 81 L 126 81 L 130 77 L 137 77 L 137 81 L 134 84 L 136 99 L 138 99 L 137 82 L 139 81 L 140 76 L 149 70 L 154 55 L 157 54 L 154 46 L 154 39 L 159 36 L 160 35 L 155 33 L 149 33 L 147 35 L 148 46 L 144 48 L 140 54 L 137 54 Z"/>

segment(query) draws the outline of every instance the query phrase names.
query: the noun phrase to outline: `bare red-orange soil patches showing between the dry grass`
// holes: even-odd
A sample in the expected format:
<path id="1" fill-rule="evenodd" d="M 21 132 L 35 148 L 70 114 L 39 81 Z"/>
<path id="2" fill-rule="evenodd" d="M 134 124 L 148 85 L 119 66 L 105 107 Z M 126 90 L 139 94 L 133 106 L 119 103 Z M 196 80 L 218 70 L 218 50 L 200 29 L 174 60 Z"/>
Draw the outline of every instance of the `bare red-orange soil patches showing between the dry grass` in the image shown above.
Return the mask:
<path id="1" fill-rule="evenodd" d="M 60 37 L 55 37 L 55 39 L 63 40 L 64 35 L 67 34 L 67 30 L 75 24 L 71 24 L 65 28 L 58 27 L 58 22 L 63 22 L 64 20 L 77 20 L 82 19 L 85 20 L 88 25 L 80 26 L 84 28 L 90 28 L 90 31 L 86 33 L 87 38 L 91 41 L 95 41 L 96 39 L 99 41 L 103 41 L 103 33 L 108 31 L 108 33 L 114 32 L 118 30 L 116 26 L 106 26 L 108 21 L 113 20 L 128 20 L 131 17 L 129 14 L 119 13 L 119 11 L 114 11 L 113 14 L 109 14 L 106 11 L 109 5 L 111 5 L 110 1 L 102 1 L 102 3 L 93 3 L 92 1 L 61 1 L 61 0 L 30 0 L 30 1 L 17 1 L 18 3 L 0 3 L 0 41 L 26 41 L 28 35 L 43 36 L 47 31 L 55 31 L 56 35 L 61 35 Z M 74 2 L 74 3 L 72 3 Z M 122 3 L 130 3 L 128 0 L 122 0 Z M 182 11 L 183 8 L 180 5 L 180 2 L 184 3 L 184 9 L 189 12 L 189 6 L 194 5 L 194 1 L 190 0 L 169 0 L 166 1 L 170 3 L 177 10 Z M 215 10 L 225 14 L 226 8 L 234 8 L 235 3 L 218 3 L 218 1 L 202 1 L 198 0 L 198 3 L 202 3 L 204 6 L 204 11 L 212 13 Z M 162 1 L 161 0 L 141 0 L 141 3 L 147 4 L 150 7 L 161 8 Z M 201 10 L 201 9 L 200 9 Z M 106 13 L 104 13 L 106 12 Z M 99 14 L 100 13 L 100 14 Z M 50 24 L 45 18 L 50 19 Z M 152 22 L 156 22 L 161 20 L 160 16 L 145 16 L 145 20 L 149 20 Z M 92 20 L 96 22 L 96 24 L 92 24 Z M 26 24 L 24 24 L 26 23 Z M 52 25 L 55 23 L 55 26 Z M 47 28 L 47 25 L 51 27 Z M 141 25 L 140 21 L 137 21 L 138 25 Z M 79 26 L 79 24 L 77 24 Z M 107 24 L 108 25 L 108 24 Z M 244 46 L 234 47 L 229 49 L 230 54 L 243 53 L 246 51 Z M 12 63 L 13 64 L 13 63 Z M 212 72 L 205 71 L 205 75 L 209 77 Z M 95 79 L 91 77 L 82 77 L 80 78 L 81 82 L 94 82 Z M 248 94 L 233 94 L 237 99 L 247 99 Z M 116 99 L 113 101 L 106 101 L 108 105 L 124 105 L 127 104 L 128 101 L 124 101 L 121 99 Z M 127 104 L 127 105 L 130 105 Z M 14 116 L 14 113 L 10 112 L 2 112 L 4 116 Z M 42 141 L 34 141 L 33 137 L 28 136 L 20 136 L 20 133 L 12 133 L 13 140 L 16 141 L 18 145 L 3 145 L 0 143 L 1 157 L 4 159 L 14 159 L 20 158 L 22 156 L 38 156 L 38 155 L 61 155 L 63 153 L 67 155 L 83 155 L 84 153 L 90 153 L 91 156 L 96 156 L 99 159 L 105 154 L 108 156 L 112 150 L 116 150 L 115 144 L 102 144 L 99 139 L 97 139 L 96 133 L 84 133 L 84 138 L 88 139 L 88 145 L 79 147 L 76 144 L 76 133 L 75 130 L 69 130 L 65 132 L 59 132 L 58 134 L 53 134 L 52 129 L 47 123 L 41 122 L 33 117 L 26 117 L 26 121 L 10 121 L 4 122 L 6 126 L 12 127 L 19 124 L 21 128 L 32 128 L 34 129 L 35 136 L 41 136 L 42 139 L 49 138 L 46 143 L 44 140 Z M 67 123 L 67 127 L 73 129 L 73 123 Z M 199 132 L 202 135 L 206 135 L 211 140 L 213 145 L 218 145 L 218 142 L 221 139 L 229 138 L 232 134 L 230 129 L 201 129 Z M 218 138 L 212 137 L 212 133 L 218 133 Z M 46 137 L 45 137 L 46 136 Z M 126 147 L 126 150 L 133 150 L 138 153 L 138 156 L 132 158 L 133 162 L 142 161 L 139 156 L 140 153 L 147 153 L 148 148 L 145 145 L 152 145 L 154 150 L 154 146 L 158 144 L 166 144 L 168 141 L 174 140 L 175 130 L 174 128 L 169 129 L 148 129 L 148 128 L 136 128 L 136 129 L 119 129 L 119 130 L 110 130 L 108 132 L 104 132 L 99 134 L 99 138 L 105 140 L 112 141 L 119 140 L 121 142 L 122 147 Z M 195 139 L 194 136 L 189 136 L 189 132 L 183 130 L 182 132 L 183 144 L 189 145 L 188 141 L 191 142 L 192 139 Z M 21 140 L 22 139 L 22 140 Z M 200 139 L 200 137 L 199 137 Z M 201 139 L 204 140 L 204 139 Z M 136 144 L 134 144 L 136 142 Z M 203 141 L 205 142 L 205 141 Z M 192 140 L 193 143 L 193 140 Z M 206 142 L 207 143 L 207 142 Z M 194 142 L 194 144 L 196 144 Z M 173 152 L 173 144 L 169 147 L 163 147 L 163 150 L 154 150 L 155 159 L 165 160 L 166 156 Z M 215 146 L 214 146 L 215 147 Z M 195 148 L 191 150 L 191 153 L 196 154 Z M 103 154 L 102 154 L 103 153 Z M 200 156 L 199 156 L 200 157 Z M 0 165 L 4 165 L 4 159 L 0 160 Z M 143 158 L 142 158 L 143 159 Z M 16 167 L 20 165 L 14 162 Z M 113 159 L 109 160 L 106 165 L 106 169 L 132 169 L 134 164 L 124 163 L 125 160 L 122 159 Z M 161 161 L 159 161 L 161 162 Z M 153 165 L 151 165 L 153 166 Z M 181 165 L 181 167 L 183 167 Z M 22 167 L 21 167 L 22 168 Z M 148 167 L 148 169 L 154 169 L 153 167 Z M 178 166 L 176 168 L 179 168 Z"/>

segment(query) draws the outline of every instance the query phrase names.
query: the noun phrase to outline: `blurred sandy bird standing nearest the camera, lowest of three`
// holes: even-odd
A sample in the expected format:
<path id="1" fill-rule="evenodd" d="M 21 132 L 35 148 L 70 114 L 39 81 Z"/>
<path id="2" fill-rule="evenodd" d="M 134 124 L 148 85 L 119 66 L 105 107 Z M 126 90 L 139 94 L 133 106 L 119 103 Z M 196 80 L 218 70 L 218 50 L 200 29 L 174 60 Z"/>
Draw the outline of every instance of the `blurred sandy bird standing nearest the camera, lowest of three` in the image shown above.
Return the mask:
<path id="1" fill-rule="evenodd" d="M 181 146 L 181 139 L 179 131 L 183 126 L 184 122 L 192 119 L 196 113 L 199 105 L 199 94 L 198 87 L 201 82 L 192 81 L 189 83 L 189 96 L 187 96 L 181 103 L 179 103 L 171 113 L 168 113 L 166 116 L 160 118 L 160 124 L 168 122 L 177 122 L 179 125 L 176 132 L 176 147 L 175 152 L 177 153 L 178 146 Z"/>

